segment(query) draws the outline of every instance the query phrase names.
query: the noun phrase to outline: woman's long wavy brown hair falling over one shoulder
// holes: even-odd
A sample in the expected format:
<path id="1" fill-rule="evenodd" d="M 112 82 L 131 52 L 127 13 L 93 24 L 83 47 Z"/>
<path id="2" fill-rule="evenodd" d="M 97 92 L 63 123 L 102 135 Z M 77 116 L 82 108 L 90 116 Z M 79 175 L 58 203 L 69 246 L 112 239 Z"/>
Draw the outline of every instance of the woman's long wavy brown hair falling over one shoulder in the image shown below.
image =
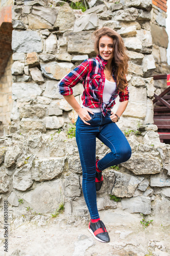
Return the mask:
<path id="1" fill-rule="evenodd" d="M 99 52 L 99 40 L 102 36 L 107 35 L 113 38 L 113 53 L 114 57 L 112 65 L 115 68 L 115 76 L 117 80 L 117 88 L 119 91 L 124 92 L 125 87 L 128 85 L 126 74 L 128 73 L 128 60 L 129 57 L 126 53 L 126 47 L 122 37 L 113 29 L 103 27 L 95 30 L 91 37 L 94 40 L 94 50 L 96 54 Z"/>

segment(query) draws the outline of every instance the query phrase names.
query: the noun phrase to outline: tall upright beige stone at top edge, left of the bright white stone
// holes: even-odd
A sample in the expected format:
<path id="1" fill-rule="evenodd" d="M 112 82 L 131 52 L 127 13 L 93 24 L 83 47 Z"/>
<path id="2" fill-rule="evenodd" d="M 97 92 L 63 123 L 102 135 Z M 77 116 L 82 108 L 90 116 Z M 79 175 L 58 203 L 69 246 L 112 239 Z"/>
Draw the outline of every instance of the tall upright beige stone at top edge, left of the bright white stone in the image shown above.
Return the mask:
<path id="1" fill-rule="evenodd" d="M 68 3 L 65 3 L 60 7 L 54 28 L 59 29 L 60 31 L 71 30 L 73 29 L 74 23 L 74 11 L 71 9 Z"/>

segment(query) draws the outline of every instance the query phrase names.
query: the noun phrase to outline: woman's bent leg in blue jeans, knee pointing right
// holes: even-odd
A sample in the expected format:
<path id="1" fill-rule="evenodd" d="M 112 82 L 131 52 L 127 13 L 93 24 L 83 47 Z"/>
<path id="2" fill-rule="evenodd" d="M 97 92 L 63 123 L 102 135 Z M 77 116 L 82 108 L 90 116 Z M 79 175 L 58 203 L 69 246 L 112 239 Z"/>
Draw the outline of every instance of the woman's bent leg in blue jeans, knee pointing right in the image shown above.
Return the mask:
<path id="1" fill-rule="evenodd" d="M 116 123 L 106 124 L 97 137 L 111 150 L 98 162 L 100 170 L 126 162 L 131 157 L 129 142 Z"/>

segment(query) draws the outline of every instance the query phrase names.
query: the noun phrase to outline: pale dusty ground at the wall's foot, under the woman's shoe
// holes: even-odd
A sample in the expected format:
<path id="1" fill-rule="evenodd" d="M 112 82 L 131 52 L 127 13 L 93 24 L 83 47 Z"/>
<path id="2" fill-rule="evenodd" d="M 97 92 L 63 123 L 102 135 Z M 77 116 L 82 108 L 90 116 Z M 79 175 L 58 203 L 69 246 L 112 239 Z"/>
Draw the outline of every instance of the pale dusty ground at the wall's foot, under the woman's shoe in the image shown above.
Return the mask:
<path id="1" fill-rule="evenodd" d="M 151 256 L 170 255 L 170 225 L 153 220 L 143 229 L 140 214 L 122 209 L 100 211 L 110 236 L 110 243 L 95 240 L 88 231 L 88 217 L 75 218 L 60 214 L 11 218 L 9 251 L 4 252 L 1 223 L 0 255 L 27 256 Z M 153 218 L 154 219 L 154 218 Z M 151 220 L 148 216 L 147 220 Z"/>

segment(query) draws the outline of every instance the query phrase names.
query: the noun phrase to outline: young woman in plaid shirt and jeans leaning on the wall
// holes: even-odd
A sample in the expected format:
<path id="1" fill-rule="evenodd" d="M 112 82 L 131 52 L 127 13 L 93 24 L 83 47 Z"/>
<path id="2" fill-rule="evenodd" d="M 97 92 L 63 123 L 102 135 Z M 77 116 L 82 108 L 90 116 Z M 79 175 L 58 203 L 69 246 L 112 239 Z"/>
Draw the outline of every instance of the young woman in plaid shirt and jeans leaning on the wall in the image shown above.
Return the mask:
<path id="1" fill-rule="evenodd" d="M 131 157 L 131 147 L 116 122 L 125 111 L 129 93 L 126 74 L 128 56 L 122 37 L 109 28 L 93 32 L 96 58 L 84 60 L 58 83 L 59 92 L 78 113 L 76 141 L 83 170 L 83 194 L 90 213 L 89 231 L 100 242 L 110 242 L 104 223 L 100 220 L 96 204 L 102 170 L 126 162 Z M 83 80 L 83 106 L 76 101 L 72 87 Z M 119 95 L 116 113 L 111 109 Z M 96 138 L 107 145 L 111 152 L 96 160 Z"/>

